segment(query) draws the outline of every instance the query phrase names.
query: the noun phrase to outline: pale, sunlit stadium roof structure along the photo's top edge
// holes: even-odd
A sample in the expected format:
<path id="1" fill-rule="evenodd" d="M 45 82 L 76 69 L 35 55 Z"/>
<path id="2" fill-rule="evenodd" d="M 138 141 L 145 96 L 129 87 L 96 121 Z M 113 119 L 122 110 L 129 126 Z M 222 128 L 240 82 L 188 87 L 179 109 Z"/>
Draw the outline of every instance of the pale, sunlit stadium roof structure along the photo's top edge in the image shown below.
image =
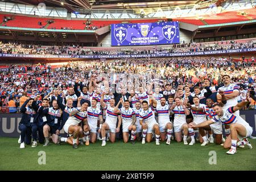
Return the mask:
<path id="1" fill-rule="evenodd" d="M 209 7 L 210 5 L 220 5 L 225 0 L 2 0 L 5 2 L 22 3 L 26 5 L 39 5 L 44 3 L 46 6 L 64 7 L 70 12 L 79 9 L 140 9 L 151 7 L 170 7 L 199 5 Z"/>

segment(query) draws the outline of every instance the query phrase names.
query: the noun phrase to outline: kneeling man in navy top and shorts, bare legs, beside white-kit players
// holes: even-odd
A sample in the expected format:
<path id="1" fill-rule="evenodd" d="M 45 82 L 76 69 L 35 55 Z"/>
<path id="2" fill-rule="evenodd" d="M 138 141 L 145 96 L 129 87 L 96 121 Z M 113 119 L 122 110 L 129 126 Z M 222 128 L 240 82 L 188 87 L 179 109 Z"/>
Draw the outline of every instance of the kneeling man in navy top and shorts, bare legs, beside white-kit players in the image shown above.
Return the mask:
<path id="1" fill-rule="evenodd" d="M 43 126 L 44 138 L 46 138 L 43 146 L 46 147 L 49 145 L 49 133 L 52 134 L 53 143 L 60 143 L 59 135 L 60 130 L 63 128 L 63 122 L 61 121 L 63 111 L 59 108 L 57 100 L 53 100 L 52 107 L 44 109 L 42 113 L 47 118 L 47 122 Z"/>

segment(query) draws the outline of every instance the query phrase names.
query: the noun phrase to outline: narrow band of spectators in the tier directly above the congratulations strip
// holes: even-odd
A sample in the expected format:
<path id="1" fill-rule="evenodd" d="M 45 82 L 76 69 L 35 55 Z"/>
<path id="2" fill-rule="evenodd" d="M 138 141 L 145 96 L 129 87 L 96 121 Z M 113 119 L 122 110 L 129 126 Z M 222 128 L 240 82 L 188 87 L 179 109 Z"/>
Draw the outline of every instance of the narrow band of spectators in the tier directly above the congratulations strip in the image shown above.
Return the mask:
<path id="1" fill-rule="evenodd" d="M 177 53 L 177 52 L 198 52 L 198 51 L 216 51 L 225 49 L 254 48 L 256 40 L 249 40 L 244 43 L 232 42 L 221 44 L 221 42 L 203 44 L 203 43 L 181 43 L 168 46 L 152 46 L 144 49 L 138 48 L 105 48 L 95 51 L 89 47 L 70 47 L 65 46 L 35 46 L 34 44 L 20 44 L 16 42 L 0 42 L 0 53 L 22 53 L 22 54 L 51 54 L 51 55 L 130 55 L 130 54 L 149 54 L 149 53 Z"/>

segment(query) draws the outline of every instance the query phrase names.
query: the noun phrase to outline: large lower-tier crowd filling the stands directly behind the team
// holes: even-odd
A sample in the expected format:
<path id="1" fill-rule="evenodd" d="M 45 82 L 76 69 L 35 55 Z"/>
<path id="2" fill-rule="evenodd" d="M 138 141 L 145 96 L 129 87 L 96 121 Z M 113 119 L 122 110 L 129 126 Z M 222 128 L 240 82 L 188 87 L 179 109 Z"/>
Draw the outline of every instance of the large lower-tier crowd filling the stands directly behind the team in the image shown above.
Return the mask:
<path id="1" fill-rule="evenodd" d="M 229 75 L 232 83 L 240 86 L 238 101 L 245 100 L 247 94 L 255 98 L 255 62 L 235 61 L 231 57 L 165 57 L 71 61 L 55 68 L 49 64 L 10 65 L 0 72 L 0 106 L 2 112 L 7 107 L 16 112 L 25 97 L 40 94 L 43 98 L 53 88 L 67 92 L 76 78 L 82 78 L 84 85 L 89 84 L 92 76 L 97 77 L 99 85 L 105 81 L 118 83 L 116 92 L 138 91 L 139 85 L 147 89 L 152 82 L 164 91 L 165 85 L 170 84 L 175 93 L 179 85 L 202 86 L 204 78 L 209 78 L 212 85 L 221 84 L 222 75 Z M 254 106 L 248 108 L 255 108 L 255 100 L 251 103 Z"/>

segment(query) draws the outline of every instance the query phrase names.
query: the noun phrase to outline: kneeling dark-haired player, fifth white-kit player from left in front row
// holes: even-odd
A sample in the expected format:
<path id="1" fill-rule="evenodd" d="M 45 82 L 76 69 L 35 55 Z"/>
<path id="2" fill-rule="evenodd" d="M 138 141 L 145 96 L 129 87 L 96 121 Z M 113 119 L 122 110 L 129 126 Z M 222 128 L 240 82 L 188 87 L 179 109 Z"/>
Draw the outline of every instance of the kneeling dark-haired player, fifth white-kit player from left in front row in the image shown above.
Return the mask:
<path id="1" fill-rule="evenodd" d="M 151 97 L 151 99 L 151 107 L 148 107 L 147 101 L 142 102 L 143 110 L 139 114 L 140 124 L 142 125 L 142 144 L 145 143 L 145 140 L 147 140 L 147 142 L 151 142 L 153 137 L 152 133 L 154 132 L 156 138 L 155 144 L 159 145 L 160 131 L 159 125 L 155 120 L 155 109 L 158 102 L 154 99 L 154 97 Z"/>

